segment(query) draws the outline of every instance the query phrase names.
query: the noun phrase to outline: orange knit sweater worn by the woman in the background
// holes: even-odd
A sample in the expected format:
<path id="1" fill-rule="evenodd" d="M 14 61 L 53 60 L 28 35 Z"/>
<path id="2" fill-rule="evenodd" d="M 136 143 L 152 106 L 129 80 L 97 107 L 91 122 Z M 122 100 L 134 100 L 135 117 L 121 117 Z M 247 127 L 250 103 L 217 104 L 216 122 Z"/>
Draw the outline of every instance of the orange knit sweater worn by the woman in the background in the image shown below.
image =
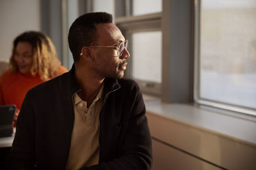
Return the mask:
<path id="1" fill-rule="evenodd" d="M 60 66 L 60 74 L 65 72 L 67 72 L 67 69 Z M 13 73 L 10 70 L 5 71 L 0 76 L 0 105 L 15 104 L 17 109 L 20 110 L 28 90 L 43 82 L 39 74 L 32 76 L 30 73 L 22 74 Z"/>

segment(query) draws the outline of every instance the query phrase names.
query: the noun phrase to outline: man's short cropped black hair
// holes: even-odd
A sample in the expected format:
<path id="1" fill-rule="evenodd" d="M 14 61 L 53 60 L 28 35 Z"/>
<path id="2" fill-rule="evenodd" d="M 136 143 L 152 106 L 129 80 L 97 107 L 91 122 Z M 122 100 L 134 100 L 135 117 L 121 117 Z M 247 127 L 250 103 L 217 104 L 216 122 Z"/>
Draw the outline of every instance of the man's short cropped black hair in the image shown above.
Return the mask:
<path id="1" fill-rule="evenodd" d="M 74 62 L 80 59 L 83 46 L 97 45 L 96 25 L 112 22 L 112 15 L 106 12 L 86 13 L 73 22 L 68 32 L 68 45 Z"/>

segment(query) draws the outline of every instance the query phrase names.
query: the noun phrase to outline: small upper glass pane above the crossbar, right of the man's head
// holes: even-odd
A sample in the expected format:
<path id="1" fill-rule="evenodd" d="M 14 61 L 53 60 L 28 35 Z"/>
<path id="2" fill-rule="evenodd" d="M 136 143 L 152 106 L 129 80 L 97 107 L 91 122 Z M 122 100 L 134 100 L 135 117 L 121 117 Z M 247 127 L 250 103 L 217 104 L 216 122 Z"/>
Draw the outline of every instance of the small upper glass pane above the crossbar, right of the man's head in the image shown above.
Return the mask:
<path id="1" fill-rule="evenodd" d="M 145 15 L 162 11 L 162 0 L 132 1 L 132 15 Z"/>

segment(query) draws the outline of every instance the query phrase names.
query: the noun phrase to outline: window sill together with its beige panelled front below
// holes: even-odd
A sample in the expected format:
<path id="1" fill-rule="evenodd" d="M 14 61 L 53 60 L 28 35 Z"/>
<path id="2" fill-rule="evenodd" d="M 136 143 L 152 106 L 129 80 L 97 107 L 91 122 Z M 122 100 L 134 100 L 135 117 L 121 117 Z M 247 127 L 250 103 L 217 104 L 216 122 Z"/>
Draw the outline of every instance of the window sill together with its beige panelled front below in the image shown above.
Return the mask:
<path id="1" fill-rule="evenodd" d="M 143 97 L 154 169 L 184 169 L 184 162 L 185 169 L 256 168 L 256 117 Z"/>

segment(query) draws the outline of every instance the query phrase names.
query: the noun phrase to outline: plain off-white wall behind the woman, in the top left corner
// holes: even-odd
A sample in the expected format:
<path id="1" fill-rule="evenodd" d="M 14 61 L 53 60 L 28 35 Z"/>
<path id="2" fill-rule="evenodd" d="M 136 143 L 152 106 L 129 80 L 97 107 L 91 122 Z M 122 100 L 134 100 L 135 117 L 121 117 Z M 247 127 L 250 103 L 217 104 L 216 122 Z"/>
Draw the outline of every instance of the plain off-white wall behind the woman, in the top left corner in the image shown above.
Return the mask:
<path id="1" fill-rule="evenodd" d="M 0 60 L 9 60 L 16 36 L 40 31 L 40 0 L 1 0 L 0 23 Z"/>

